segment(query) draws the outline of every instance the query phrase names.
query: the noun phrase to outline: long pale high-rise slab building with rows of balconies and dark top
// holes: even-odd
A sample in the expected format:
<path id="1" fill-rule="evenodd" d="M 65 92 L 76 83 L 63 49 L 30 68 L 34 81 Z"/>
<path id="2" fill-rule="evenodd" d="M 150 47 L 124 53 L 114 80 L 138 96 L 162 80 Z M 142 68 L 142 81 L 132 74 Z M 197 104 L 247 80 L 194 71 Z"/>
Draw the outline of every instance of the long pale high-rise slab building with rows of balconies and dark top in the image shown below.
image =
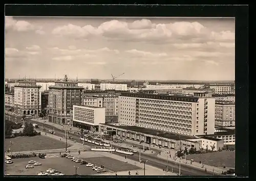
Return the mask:
<path id="1" fill-rule="evenodd" d="M 118 122 L 188 136 L 214 134 L 215 99 L 195 96 L 121 93 Z"/>

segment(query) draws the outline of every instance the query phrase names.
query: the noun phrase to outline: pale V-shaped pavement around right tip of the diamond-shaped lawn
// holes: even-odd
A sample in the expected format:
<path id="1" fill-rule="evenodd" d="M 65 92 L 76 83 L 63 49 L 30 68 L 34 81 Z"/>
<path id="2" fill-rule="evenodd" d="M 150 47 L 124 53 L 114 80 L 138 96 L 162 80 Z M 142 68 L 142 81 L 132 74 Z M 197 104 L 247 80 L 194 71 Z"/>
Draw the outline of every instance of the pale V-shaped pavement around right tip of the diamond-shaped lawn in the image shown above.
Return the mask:
<path id="1" fill-rule="evenodd" d="M 135 175 L 136 171 L 139 172 L 139 175 L 144 175 L 144 163 L 139 163 L 137 161 L 125 159 L 124 157 L 118 156 L 116 154 L 111 154 L 109 152 L 98 152 L 98 154 L 100 154 L 101 156 L 104 156 L 104 157 L 110 157 L 110 158 L 113 158 L 113 159 L 116 159 L 116 160 L 119 160 L 122 162 L 126 162 L 126 163 L 129 163 L 132 165 L 136 164 L 136 166 L 140 167 L 141 169 L 130 170 L 131 175 Z M 129 175 L 128 172 L 129 172 L 129 170 L 120 171 L 120 172 L 117 172 L 117 175 Z M 102 173 L 100 175 L 115 175 L 115 174 L 116 173 L 114 172 L 114 173 Z M 162 169 L 145 164 L 145 175 L 177 175 L 177 173 L 165 172 Z"/>

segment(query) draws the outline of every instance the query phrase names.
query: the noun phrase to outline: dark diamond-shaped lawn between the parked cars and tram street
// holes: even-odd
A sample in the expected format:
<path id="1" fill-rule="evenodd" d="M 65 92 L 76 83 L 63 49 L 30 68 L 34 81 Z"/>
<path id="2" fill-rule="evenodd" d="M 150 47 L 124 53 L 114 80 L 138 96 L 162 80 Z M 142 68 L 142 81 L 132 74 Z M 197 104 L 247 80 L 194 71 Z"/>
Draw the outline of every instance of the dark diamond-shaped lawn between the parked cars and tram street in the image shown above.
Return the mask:
<path id="1" fill-rule="evenodd" d="M 81 158 L 81 159 L 98 166 L 104 165 L 104 168 L 114 172 L 141 169 L 140 167 L 137 167 L 135 165 L 121 162 L 119 160 L 112 159 L 110 157 L 95 157 L 95 158 Z"/>

